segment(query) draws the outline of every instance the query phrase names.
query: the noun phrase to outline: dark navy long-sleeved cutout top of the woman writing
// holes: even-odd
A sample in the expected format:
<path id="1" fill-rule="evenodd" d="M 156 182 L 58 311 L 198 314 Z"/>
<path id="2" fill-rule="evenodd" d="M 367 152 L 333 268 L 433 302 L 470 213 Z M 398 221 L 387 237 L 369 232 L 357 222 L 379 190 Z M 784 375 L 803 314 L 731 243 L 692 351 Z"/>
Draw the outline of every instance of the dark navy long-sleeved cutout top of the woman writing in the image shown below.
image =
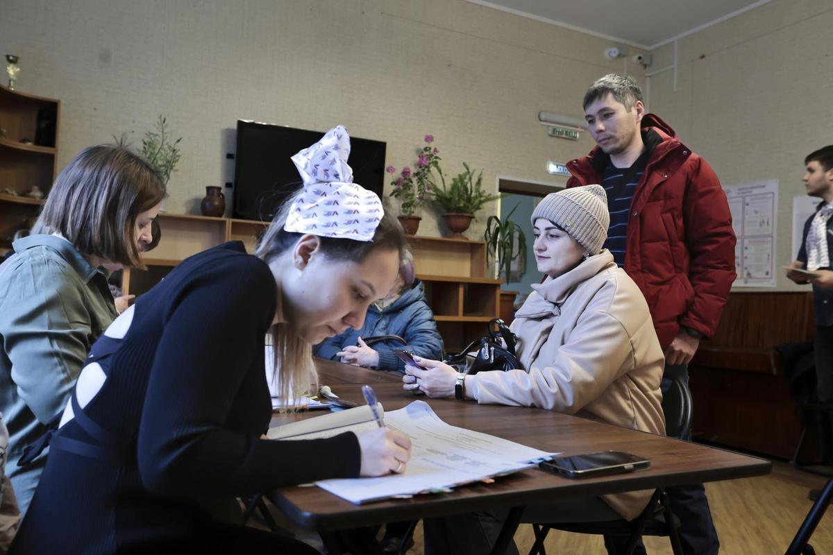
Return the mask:
<path id="1" fill-rule="evenodd" d="M 184 260 L 142 295 L 124 338 L 91 350 L 112 354 L 82 412 L 116 444 L 78 416 L 57 431 L 12 551 L 158 553 L 211 528 L 198 499 L 357 477 L 355 434 L 260 439 L 272 414 L 263 344 L 276 292 L 268 266 L 234 242 Z"/>

